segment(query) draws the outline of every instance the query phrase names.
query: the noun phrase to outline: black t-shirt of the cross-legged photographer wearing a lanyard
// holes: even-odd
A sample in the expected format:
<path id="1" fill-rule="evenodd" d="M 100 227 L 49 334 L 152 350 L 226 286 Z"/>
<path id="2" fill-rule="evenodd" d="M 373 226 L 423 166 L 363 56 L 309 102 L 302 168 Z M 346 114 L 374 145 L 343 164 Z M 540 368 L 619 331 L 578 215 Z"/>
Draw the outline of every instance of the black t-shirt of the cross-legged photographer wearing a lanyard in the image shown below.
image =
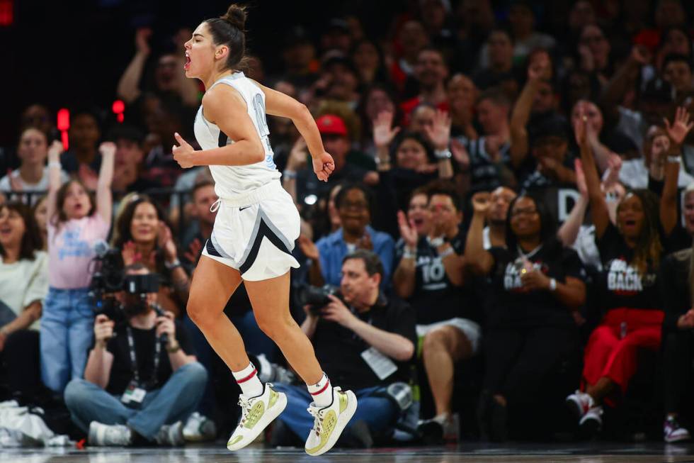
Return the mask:
<path id="1" fill-rule="evenodd" d="M 176 340 L 181 345 L 181 350 L 187 355 L 194 355 L 193 345 L 188 340 L 186 328 L 181 322 L 176 320 Z M 169 381 L 171 374 L 174 374 L 169 362 L 169 353 L 166 346 L 161 346 L 159 353 L 159 369 L 156 380 L 150 385 L 154 373 L 154 352 L 156 352 L 157 328 L 142 330 L 130 327 L 132 340 L 135 344 L 135 359 L 137 360 L 137 371 L 140 374 L 140 381 L 147 383 L 147 389 L 159 389 L 166 381 Z M 108 341 L 106 350 L 113 354 L 113 367 L 111 367 L 106 392 L 120 396 L 133 379 L 133 368 L 130 362 L 130 347 L 127 342 L 126 325 L 116 327 L 115 335 Z"/>

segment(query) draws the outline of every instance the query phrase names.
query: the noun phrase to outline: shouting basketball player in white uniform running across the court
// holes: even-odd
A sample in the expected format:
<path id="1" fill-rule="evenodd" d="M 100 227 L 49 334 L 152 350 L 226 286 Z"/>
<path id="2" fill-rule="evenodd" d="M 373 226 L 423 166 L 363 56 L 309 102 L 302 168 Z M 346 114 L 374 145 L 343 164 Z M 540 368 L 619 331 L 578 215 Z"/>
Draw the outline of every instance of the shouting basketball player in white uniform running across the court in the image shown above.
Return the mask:
<path id="1" fill-rule="evenodd" d="M 334 169 L 307 108 L 290 96 L 248 79 L 244 62 L 246 12 L 229 6 L 220 18 L 204 21 L 186 42 L 186 76 L 205 84 L 203 104 L 195 118 L 193 150 L 181 135 L 174 158 L 184 169 L 210 166 L 219 201 L 215 227 L 190 288 L 188 316 L 232 370 L 241 386 L 241 420 L 229 437 L 229 450 L 249 445 L 287 403 L 285 394 L 262 384 L 249 361 L 244 341 L 222 310 L 244 281 L 261 330 L 282 350 L 306 382 L 313 402 L 308 412 L 314 428 L 306 452 L 319 455 L 335 444 L 354 414 L 352 391 L 330 384 L 313 346 L 289 312 L 289 269 L 299 267 L 291 255 L 299 236 L 299 213 L 280 185 L 273 162 L 266 113 L 292 119 L 305 138 L 317 177 L 326 181 Z"/>

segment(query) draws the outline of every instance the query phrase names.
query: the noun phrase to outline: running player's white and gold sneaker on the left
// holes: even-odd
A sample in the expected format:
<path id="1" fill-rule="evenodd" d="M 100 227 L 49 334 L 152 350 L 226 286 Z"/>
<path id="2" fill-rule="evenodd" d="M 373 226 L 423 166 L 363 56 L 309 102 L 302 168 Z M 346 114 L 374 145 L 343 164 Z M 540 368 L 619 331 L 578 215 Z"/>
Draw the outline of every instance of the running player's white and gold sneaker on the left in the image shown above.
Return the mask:
<path id="1" fill-rule="evenodd" d="M 229 437 L 227 449 L 239 450 L 251 442 L 277 418 L 287 406 L 287 396 L 272 389 L 272 384 L 266 383 L 263 394 L 256 397 L 239 396 L 241 420 Z"/>

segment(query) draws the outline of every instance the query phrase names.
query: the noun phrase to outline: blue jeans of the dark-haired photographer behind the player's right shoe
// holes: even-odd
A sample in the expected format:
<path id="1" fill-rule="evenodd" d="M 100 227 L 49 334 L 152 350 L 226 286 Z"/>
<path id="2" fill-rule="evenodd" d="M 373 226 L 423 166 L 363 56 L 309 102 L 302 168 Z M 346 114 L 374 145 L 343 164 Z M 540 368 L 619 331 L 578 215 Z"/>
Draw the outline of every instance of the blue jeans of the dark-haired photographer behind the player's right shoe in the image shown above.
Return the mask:
<path id="1" fill-rule="evenodd" d="M 288 398 L 287 408 L 277 419 L 282 420 L 297 436 L 306 440 L 313 428 L 313 416 L 306 411 L 313 400 L 311 394 L 305 386 L 275 384 L 274 388 L 287 394 Z M 395 423 L 400 413 L 399 409 L 389 399 L 375 396 L 382 389 L 382 387 L 370 387 L 353 391 L 359 403 L 346 429 L 349 429 L 355 421 L 364 420 L 372 433 L 378 433 Z"/>

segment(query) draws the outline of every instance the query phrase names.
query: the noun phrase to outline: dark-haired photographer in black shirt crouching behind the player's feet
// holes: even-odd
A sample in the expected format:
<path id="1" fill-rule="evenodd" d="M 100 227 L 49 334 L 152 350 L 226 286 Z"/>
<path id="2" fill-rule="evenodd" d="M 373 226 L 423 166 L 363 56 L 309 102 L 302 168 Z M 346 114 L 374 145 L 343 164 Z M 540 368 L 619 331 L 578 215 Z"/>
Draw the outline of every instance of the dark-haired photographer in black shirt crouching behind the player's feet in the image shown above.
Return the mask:
<path id="1" fill-rule="evenodd" d="M 363 422 L 370 433 L 394 424 L 399 408 L 385 396 L 396 381 L 408 381 L 406 367 L 416 343 L 414 311 L 398 299 L 386 299 L 379 285 L 383 265 L 373 252 L 356 250 L 343 259 L 341 297 L 326 296 L 321 307 L 307 307 L 301 328 L 312 340 L 316 355 L 332 381 L 351 389 L 359 407 L 350 425 Z M 279 416 L 298 437 L 312 428 L 305 413 L 311 396 L 301 386 L 277 385 L 288 395 Z M 370 438 L 360 439 L 368 446 Z"/>

